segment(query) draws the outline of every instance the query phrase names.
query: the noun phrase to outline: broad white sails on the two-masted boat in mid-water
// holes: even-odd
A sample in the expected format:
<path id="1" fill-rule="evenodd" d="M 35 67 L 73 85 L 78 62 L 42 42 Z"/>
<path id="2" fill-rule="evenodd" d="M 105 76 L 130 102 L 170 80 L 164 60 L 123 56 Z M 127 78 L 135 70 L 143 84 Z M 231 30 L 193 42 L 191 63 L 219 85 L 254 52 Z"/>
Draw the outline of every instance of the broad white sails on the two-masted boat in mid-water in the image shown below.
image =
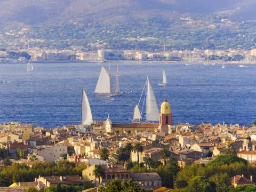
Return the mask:
<path id="1" fill-rule="evenodd" d="M 105 67 L 101 68 L 98 83 L 96 85 L 94 93 L 110 93 L 110 75 Z"/>

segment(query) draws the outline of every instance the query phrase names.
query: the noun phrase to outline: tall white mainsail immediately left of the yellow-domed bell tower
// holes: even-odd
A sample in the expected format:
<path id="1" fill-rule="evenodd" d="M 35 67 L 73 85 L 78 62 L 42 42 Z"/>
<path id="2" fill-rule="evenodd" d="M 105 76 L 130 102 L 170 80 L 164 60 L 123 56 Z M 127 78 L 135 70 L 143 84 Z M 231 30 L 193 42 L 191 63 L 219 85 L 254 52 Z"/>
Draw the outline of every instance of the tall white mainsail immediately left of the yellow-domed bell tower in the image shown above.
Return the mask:
<path id="1" fill-rule="evenodd" d="M 149 78 L 147 78 L 147 109 L 146 119 L 147 121 L 158 121 L 159 110 L 157 107 L 156 97 Z"/>

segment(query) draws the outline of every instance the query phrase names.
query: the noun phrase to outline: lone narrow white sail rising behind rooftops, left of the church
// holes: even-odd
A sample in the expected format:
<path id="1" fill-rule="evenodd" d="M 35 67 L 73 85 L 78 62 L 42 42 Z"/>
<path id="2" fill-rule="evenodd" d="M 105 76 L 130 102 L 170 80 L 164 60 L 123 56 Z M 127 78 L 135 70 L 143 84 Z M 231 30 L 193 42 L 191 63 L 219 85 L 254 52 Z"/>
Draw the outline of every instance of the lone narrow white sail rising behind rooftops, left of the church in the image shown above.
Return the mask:
<path id="1" fill-rule="evenodd" d="M 82 93 L 82 111 L 81 111 L 81 124 L 91 125 L 92 124 L 92 111 L 90 108 L 89 100 L 83 89 Z"/>

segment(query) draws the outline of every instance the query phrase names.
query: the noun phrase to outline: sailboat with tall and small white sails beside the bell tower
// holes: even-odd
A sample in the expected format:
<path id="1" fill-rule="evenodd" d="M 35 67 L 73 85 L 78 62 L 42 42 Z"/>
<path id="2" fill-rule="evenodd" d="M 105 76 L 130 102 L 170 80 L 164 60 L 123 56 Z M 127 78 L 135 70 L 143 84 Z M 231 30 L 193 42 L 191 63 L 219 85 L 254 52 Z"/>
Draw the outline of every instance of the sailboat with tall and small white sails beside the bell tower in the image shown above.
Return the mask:
<path id="1" fill-rule="evenodd" d="M 146 87 L 146 90 L 145 90 L 145 87 Z M 145 99 L 146 99 L 146 122 L 158 121 L 159 110 L 157 107 L 156 97 L 155 97 L 153 88 L 151 86 L 151 83 L 149 81 L 149 78 L 147 77 L 147 81 L 143 87 L 139 103 L 134 107 L 133 122 L 139 122 L 142 119 L 141 114 L 143 114 L 145 100 L 143 101 L 143 104 L 142 104 L 141 113 L 139 110 L 139 104 L 144 92 L 145 92 Z"/>

